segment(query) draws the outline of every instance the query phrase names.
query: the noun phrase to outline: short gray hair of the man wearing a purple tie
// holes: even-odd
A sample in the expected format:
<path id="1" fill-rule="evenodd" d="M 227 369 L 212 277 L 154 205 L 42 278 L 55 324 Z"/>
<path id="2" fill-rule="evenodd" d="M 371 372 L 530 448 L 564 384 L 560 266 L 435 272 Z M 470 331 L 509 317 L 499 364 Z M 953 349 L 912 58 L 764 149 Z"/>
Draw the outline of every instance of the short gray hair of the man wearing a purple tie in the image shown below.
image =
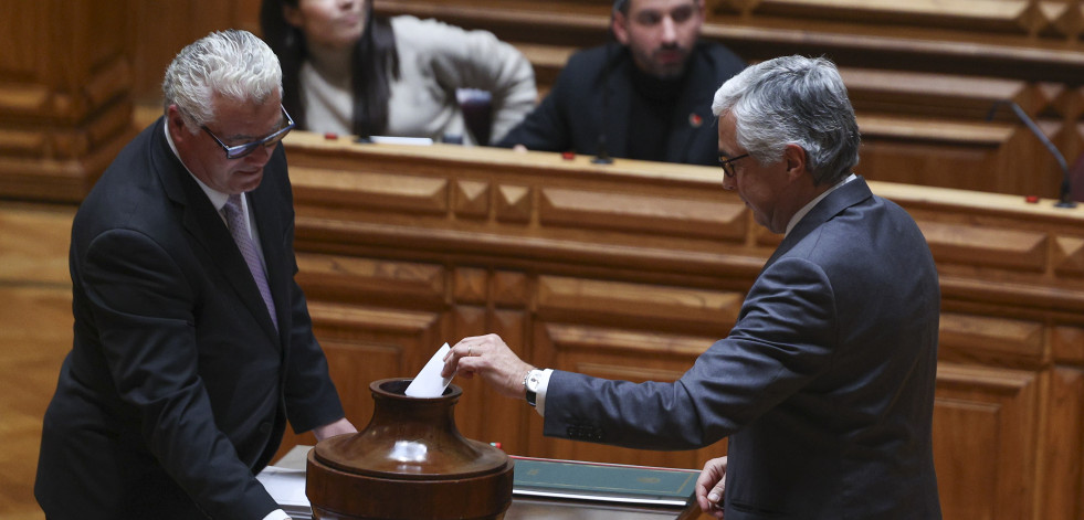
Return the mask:
<path id="1" fill-rule="evenodd" d="M 165 109 L 177 105 L 192 132 L 214 120 L 215 95 L 235 102 L 263 103 L 282 97 L 278 57 L 248 31 L 212 32 L 177 53 L 161 84 Z"/>

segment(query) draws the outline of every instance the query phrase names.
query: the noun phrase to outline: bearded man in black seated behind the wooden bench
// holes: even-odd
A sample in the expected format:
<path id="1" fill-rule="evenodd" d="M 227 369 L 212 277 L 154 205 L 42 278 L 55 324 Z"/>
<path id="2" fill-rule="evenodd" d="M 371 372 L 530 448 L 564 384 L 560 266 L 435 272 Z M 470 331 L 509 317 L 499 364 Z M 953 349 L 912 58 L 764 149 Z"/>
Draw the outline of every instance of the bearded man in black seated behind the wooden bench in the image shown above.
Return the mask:
<path id="1" fill-rule="evenodd" d="M 497 146 L 717 163 L 712 87 L 744 63 L 699 41 L 703 0 L 618 0 L 619 43 L 569 59 L 549 95 Z"/>

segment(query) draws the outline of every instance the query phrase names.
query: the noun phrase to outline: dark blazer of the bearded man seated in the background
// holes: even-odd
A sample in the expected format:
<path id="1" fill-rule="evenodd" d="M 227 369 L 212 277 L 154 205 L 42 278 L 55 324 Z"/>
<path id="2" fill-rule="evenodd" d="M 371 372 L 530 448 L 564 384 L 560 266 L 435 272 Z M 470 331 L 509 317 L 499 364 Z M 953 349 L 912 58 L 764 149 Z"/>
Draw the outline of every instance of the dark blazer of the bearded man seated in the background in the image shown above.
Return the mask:
<path id="1" fill-rule="evenodd" d="M 629 128 L 628 112 L 634 96 L 634 66 L 629 50 L 618 43 L 573 54 L 549 95 L 497 146 L 524 145 L 530 150 L 593 156 L 599 152 L 599 135 L 604 128 L 609 153 L 629 157 L 629 132 L 636 130 Z M 715 91 L 741 72 L 745 63 L 718 43 L 699 42 L 687 67 L 684 92 L 671 116 L 666 156 L 656 160 L 718 165 L 718 126 L 712 102 Z"/>

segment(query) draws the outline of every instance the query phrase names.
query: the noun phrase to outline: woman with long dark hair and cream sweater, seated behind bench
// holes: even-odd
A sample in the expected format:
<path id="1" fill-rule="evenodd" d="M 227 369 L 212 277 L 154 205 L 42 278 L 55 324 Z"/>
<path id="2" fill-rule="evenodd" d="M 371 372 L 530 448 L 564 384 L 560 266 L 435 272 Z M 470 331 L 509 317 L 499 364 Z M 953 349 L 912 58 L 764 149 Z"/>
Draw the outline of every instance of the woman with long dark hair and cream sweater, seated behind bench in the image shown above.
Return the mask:
<path id="1" fill-rule="evenodd" d="M 535 105 L 530 63 L 486 31 L 373 17 L 372 0 L 264 0 L 260 22 L 282 62 L 283 105 L 309 131 L 485 145 Z M 467 131 L 463 89 L 491 96 L 480 136 Z"/>

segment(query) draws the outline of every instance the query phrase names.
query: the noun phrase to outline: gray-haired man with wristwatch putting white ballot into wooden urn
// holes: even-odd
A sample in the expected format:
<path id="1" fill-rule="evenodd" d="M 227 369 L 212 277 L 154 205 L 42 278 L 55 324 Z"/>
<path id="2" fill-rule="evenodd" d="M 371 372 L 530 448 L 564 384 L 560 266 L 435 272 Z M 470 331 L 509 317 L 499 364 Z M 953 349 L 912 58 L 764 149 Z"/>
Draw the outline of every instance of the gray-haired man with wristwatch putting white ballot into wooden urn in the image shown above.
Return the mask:
<path id="1" fill-rule="evenodd" d="M 728 438 L 696 489 L 718 518 L 940 518 L 937 272 L 914 220 L 851 173 L 859 129 L 839 72 L 764 62 L 724 84 L 713 112 L 723 187 L 785 234 L 727 338 L 672 383 L 539 371 L 493 335 L 459 342 L 444 372 L 526 396 L 550 436 L 648 449 Z"/>

